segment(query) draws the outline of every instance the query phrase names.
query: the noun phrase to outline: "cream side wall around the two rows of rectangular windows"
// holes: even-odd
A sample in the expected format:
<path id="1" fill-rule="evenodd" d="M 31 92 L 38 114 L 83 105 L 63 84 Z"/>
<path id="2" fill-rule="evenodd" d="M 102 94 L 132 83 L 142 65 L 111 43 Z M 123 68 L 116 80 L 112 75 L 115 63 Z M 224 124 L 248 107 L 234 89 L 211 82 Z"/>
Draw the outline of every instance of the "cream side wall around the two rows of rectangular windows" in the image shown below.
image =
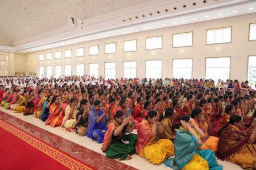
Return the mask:
<path id="1" fill-rule="evenodd" d="M 230 78 L 244 81 L 247 79 L 248 56 L 256 55 L 256 41 L 248 41 L 249 23 L 256 22 L 256 13 L 246 14 L 213 21 L 197 22 L 182 26 L 155 29 L 124 36 L 116 36 L 95 41 L 83 42 L 26 53 L 26 71 L 36 72 L 38 75 L 39 66 L 53 66 L 52 73 L 55 74 L 55 65 L 61 64 L 62 74 L 65 73 L 65 64 L 73 65 L 73 74 L 76 71 L 76 64 L 85 63 L 85 74 L 89 74 L 89 63 L 99 63 L 99 75 L 104 76 L 104 62 L 117 62 L 117 78 L 123 77 L 123 61 L 137 61 L 137 77 L 145 76 L 145 61 L 150 59 L 162 59 L 162 78 L 172 76 L 173 58 L 192 58 L 192 77 L 205 77 L 206 57 L 231 57 Z M 226 44 L 206 45 L 206 29 L 232 26 L 232 42 Z M 193 31 L 193 46 L 172 48 L 172 34 Z M 145 50 L 145 38 L 153 36 L 163 36 L 163 48 L 155 50 Z M 123 41 L 137 39 L 136 52 L 123 52 Z M 104 54 L 104 44 L 117 42 L 117 53 Z M 99 44 L 99 55 L 89 56 L 89 46 Z M 75 57 L 76 48 L 85 47 L 85 57 Z M 219 49 L 219 52 L 216 49 Z M 64 58 L 65 49 L 73 49 L 72 58 Z M 55 59 L 55 51 L 62 52 L 62 59 Z M 183 51 L 183 53 L 181 53 Z M 46 53 L 52 52 L 53 59 L 46 60 Z M 45 61 L 38 60 L 38 54 L 45 54 Z M 154 53 L 154 56 L 152 56 Z M 131 57 L 128 57 L 131 55 Z M 17 65 L 16 65 L 17 66 Z"/>

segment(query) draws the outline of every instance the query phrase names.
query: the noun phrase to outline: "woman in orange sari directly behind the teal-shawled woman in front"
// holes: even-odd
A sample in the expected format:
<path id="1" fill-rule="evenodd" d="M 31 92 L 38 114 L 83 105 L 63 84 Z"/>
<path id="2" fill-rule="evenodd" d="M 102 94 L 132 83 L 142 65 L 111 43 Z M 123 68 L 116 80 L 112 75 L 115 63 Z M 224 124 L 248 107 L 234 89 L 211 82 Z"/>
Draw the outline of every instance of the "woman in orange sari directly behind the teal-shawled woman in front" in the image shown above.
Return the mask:
<path id="1" fill-rule="evenodd" d="M 200 137 L 202 140 L 202 146 L 200 149 L 211 149 L 216 153 L 218 151 L 219 138 L 210 136 L 211 122 L 209 117 L 202 112 L 202 109 L 196 107 L 192 110 L 191 121 L 196 127 L 200 128 L 205 133 L 205 137 Z M 199 136 L 199 134 L 197 134 Z"/>

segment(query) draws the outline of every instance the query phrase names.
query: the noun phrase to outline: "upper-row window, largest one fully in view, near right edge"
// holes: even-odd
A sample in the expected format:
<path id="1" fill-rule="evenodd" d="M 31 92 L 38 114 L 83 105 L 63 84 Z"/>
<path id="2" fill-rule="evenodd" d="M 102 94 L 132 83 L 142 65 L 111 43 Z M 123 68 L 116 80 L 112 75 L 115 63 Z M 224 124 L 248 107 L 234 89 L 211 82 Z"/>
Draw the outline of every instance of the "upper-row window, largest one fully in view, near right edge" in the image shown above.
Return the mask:
<path id="1" fill-rule="evenodd" d="M 230 43 L 232 27 L 207 29 L 206 44 Z"/>

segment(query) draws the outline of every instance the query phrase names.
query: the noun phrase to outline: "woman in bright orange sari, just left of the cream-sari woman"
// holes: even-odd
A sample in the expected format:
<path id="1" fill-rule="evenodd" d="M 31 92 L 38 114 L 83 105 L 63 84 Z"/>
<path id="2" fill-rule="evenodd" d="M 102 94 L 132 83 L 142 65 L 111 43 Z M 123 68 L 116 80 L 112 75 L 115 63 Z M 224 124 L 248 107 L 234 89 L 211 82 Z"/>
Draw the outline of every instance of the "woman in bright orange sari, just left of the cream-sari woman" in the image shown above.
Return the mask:
<path id="1" fill-rule="evenodd" d="M 59 96 L 52 97 L 51 103 L 49 117 L 47 118 L 45 124 L 50 124 L 52 127 L 57 127 L 61 125 L 64 118 L 64 109 L 62 108 L 61 99 Z"/>

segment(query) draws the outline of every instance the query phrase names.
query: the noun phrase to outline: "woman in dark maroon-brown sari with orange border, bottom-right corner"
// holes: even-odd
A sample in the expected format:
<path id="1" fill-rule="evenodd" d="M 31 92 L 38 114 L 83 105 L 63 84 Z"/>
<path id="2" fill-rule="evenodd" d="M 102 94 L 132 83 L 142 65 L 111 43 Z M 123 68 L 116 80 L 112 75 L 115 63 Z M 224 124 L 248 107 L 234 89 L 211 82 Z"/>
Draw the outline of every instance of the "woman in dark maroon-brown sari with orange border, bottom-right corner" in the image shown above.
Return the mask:
<path id="1" fill-rule="evenodd" d="M 218 158 L 239 164 L 242 168 L 256 169 L 256 122 L 246 131 L 241 116 L 233 114 L 229 123 L 219 131 Z"/>

